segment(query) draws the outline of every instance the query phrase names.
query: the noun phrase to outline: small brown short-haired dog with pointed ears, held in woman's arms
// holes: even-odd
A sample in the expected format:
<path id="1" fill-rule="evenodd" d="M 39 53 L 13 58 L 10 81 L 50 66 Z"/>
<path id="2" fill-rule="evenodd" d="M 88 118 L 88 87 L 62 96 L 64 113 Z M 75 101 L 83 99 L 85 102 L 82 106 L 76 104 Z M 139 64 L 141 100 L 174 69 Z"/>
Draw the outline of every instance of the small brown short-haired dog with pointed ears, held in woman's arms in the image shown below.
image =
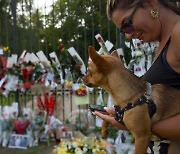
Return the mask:
<path id="1" fill-rule="evenodd" d="M 146 103 L 141 101 L 140 104 L 135 105 L 146 93 L 146 82 L 127 70 L 115 56 L 115 52 L 101 56 L 91 46 L 88 52 L 91 61 L 88 67 L 89 74 L 83 78 L 84 84 L 89 87 L 101 87 L 112 95 L 115 105 L 124 109 L 122 119 L 135 138 L 135 154 L 145 154 L 152 135 L 151 125 L 180 113 L 180 91 L 162 84 L 153 85 L 151 99 L 156 110 L 150 117 L 147 100 Z M 130 102 L 135 103 L 128 108 Z M 107 123 L 103 122 L 103 133 L 106 132 L 107 126 Z M 171 141 L 168 154 L 179 153 L 180 144 Z"/>

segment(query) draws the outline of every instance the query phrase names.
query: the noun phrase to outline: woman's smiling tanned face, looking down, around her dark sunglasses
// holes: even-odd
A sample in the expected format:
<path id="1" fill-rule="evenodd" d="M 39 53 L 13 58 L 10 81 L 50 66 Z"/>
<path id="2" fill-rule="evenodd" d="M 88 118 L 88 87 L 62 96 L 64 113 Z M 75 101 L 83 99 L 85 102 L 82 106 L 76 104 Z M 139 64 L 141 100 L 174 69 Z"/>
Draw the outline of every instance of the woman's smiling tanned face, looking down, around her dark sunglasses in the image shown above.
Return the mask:
<path id="1" fill-rule="evenodd" d="M 112 14 L 112 21 L 114 24 L 121 28 L 122 22 L 132 14 L 135 6 L 131 9 L 116 9 Z M 160 23 L 158 19 L 153 19 L 150 15 L 150 7 L 139 7 L 132 16 L 132 24 L 134 32 L 131 34 L 125 33 L 128 39 L 137 38 L 144 42 L 157 41 L 160 36 Z"/>

